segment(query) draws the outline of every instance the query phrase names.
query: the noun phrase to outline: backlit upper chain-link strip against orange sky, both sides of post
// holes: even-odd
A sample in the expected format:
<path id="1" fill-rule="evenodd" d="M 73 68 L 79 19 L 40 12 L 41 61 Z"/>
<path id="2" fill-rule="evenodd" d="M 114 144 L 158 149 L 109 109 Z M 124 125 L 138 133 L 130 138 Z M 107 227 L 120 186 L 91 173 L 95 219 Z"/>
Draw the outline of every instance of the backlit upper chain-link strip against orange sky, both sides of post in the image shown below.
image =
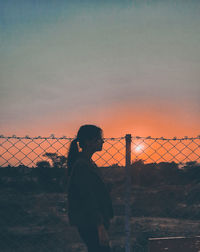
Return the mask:
<path id="1" fill-rule="evenodd" d="M 129 134 L 128 134 L 129 135 Z M 131 136 L 132 161 L 142 159 L 144 162 L 176 162 L 200 161 L 200 137 L 171 138 Z M 44 160 L 45 153 L 56 153 L 66 156 L 73 138 L 67 137 L 17 137 L 0 136 L 1 167 L 20 164 L 35 166 Z M 101 152 L 95 153 L 93 159 L 99 166 L 117 164 L 125 166 L 126 137 L 105 138 Z M 46 157 L 47 158 L 47 157 Z"/>

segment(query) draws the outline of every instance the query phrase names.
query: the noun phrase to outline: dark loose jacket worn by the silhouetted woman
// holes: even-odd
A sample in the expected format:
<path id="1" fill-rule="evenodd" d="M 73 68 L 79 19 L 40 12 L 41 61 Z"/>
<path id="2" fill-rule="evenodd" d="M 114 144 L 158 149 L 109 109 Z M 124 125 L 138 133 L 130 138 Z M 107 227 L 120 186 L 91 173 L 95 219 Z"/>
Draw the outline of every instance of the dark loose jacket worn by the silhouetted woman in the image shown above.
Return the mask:
<path id="1" fill-rule="evenodd" d="M 82 157 L 72 167 L 68 185 L 68 217 L 71 225 L 103 223 L 107 229 L 113 218 L 112 201 L 100 169 Z"/>

